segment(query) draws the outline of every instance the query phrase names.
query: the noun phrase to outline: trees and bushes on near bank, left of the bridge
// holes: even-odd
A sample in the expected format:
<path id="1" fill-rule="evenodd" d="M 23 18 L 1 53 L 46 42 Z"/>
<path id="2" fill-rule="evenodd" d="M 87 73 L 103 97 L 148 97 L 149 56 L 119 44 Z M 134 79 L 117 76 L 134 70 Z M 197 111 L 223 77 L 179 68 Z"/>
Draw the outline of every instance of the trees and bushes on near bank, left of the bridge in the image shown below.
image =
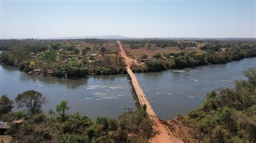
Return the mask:
<path id="1" fill-rule="evenodd" d="M 10 125 L 5 134 L 11 135 L 12 142 L 147 142 L 154 135 L 145 108 L 126 110 L 117 119 L 97 117 L 93 121 L 79 112 L 69 114 L 66 101 L 56 111 L 45 113 L 42 105 L 47 102 L 40 92 L 25 91 L 15 98 L 23 110 L 10 113 L 14 101 L 6 95 L 0 98 L 0 120 Z"/>

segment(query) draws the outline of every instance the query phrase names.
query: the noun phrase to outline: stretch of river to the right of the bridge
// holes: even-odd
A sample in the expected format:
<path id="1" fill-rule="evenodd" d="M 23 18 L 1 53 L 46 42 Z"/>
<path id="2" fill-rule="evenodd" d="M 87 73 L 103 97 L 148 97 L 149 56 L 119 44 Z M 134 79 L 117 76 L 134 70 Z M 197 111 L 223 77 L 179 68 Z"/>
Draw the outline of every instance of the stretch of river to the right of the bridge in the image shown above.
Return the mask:
<path id="1" fill-rule="evenodd" d="M 168 120 L 198 108 L 207 92 L 233 88 L 235 80 L 246 79 L 242 71 L 251 67 L 256 67 L 256 58 L 136 76 L 156 114 Z"/>

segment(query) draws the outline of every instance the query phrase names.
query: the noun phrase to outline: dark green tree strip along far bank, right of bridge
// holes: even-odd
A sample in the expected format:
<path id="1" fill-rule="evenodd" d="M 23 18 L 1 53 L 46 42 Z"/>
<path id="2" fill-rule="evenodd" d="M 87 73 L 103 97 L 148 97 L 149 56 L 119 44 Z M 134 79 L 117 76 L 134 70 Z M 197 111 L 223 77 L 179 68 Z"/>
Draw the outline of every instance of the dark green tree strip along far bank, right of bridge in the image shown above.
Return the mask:
<path id="1" fill-rule="evenodd" d="M 208 45 L 207 49 L 212 49 L 212 45 Z M 240 47 L 225 48 L 225 52 L 207 51 L 206 53 L 197 52 L 180 52 L 165 53 L 161 55 L 157 53 L 154 59 L 146 61 L 145 68 L 133 68 L 135 72 L 152 72 L 165 69 L 181 69 L 187 67 L 204 66 L 208 64 L 227 63 L 230 61 L 241 60 L 256 56 L 255 45 L 241 45 Z"/>

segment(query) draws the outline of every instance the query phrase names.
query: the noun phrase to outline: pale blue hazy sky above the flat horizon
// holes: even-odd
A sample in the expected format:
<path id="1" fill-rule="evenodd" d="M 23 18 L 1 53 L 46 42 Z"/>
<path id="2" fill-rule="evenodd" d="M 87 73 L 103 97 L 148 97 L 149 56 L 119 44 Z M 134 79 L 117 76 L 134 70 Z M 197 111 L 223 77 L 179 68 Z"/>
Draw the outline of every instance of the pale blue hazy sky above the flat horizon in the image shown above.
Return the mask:
<path id="1" fill-rule="evenodd" d="M 256 0 L 0 0 L 0 38 L 255 38 Z"/>

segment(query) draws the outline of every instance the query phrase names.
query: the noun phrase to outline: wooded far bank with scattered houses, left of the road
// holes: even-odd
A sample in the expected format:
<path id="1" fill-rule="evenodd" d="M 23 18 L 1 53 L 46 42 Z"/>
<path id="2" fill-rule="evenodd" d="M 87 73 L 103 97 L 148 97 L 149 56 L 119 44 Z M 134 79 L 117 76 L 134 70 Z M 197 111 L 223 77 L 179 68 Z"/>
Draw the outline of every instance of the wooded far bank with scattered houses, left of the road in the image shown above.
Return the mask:
<path id="1" fill-rule="evenodd" d="M 7 40 L 8 41 L 8 40 Z M 42 42 L 45 41 L 45 42 Z M 76 41 L 97 43 L 97 46 L 76 48 Z M 22 40 L 25 44 L 12 46 L 0 55 L 0 62 L 19 67 L 30 73 L 43 73 L 58 77 L 85 77 L 126 73 L 124 62 L 117 51 L 99 47 L 101 39 L 72 40 Z M 91 54 L 97 52 L 101 56 Z M 87 54 L 90 53 L 90 54 Z"/>

